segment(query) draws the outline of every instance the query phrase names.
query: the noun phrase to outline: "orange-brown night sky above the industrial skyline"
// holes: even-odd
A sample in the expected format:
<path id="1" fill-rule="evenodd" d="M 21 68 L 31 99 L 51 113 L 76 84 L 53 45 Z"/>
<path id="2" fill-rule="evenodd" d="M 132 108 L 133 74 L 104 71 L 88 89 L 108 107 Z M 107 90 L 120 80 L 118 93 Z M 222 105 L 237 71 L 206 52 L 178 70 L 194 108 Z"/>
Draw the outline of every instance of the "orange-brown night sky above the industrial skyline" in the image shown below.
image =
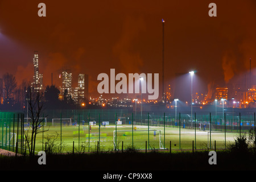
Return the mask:
<path id="1" fill-rule="evenodd" d="M 38 4 L 46 4 L 46 17 Z M 217 17 L 210 17 L 209 3 Z M 196 70 L 201 90 L 224 85 L 256 67 L 256 1 L 10 1 L 0 0 L 0 77 L 32 80 L 34 51 L 44 85 L 60 86 L 61 69 L 89 75 L 89 93 L 98 96 L 97 76 L 159 73 L 162 89 L 162 18 L 165 84 L 175 73 Z M 255 75 L 254 71 L 253 74 Z M 189 77 L 188 77 L 189 79 Z M 162 91 L 160 91 L 161 93 Z"/>

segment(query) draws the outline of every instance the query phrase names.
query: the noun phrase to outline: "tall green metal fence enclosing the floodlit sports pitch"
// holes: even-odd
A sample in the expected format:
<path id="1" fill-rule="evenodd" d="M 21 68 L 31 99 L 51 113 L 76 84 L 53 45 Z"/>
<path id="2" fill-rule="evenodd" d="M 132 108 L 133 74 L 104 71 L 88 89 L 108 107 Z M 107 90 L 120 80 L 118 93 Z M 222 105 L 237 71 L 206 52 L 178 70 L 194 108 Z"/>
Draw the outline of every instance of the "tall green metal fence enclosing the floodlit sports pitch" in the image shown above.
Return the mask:
<path id="1" fill-rule="evenodd" d="M 0 113 L 1 144 L 20 153 L 24 132 L 30 131 L 26 113 Z M 160 113 L 128 110 L 47 110 L 40 116 L 36 151 L 57 153 L 138 149 L 225 149 L 243 133 L 255 133 L 255 113 Z M 16 143 L 15 143 L 16 142 Z"/>

